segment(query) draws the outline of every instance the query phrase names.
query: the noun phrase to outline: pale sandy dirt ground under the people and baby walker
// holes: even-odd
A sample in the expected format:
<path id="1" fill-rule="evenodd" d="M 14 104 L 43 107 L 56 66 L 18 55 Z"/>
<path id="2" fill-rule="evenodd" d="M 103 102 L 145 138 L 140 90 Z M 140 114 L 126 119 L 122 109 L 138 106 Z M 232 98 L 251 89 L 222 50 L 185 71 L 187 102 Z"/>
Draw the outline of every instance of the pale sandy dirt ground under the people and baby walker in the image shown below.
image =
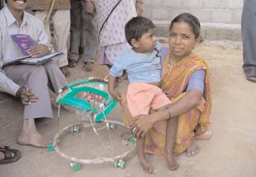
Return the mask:
<path id="1" fill-rule="evenodd" d="M 209 141 L 197 141 L 201 147 L 200 153 L 194 158 L 186 158 L 184 154 L 177 156 L 180 168 L 169 171 L 164 159 L 160 156 L 147 156 L 155 166 L 155 173 L 147 175 L 139 166 L 138 158 L 131 154 L 127 159 L 124 170 L 115 169 L 110 162 L 100 165 L 82 166 L 80 171 L 73 171 L 69 162 L 56 152 L 37 149 L 16 144 L 16 138 L 22 125 L 22 107 L 10 96 L 0 95 L 0 145 L 10 145 L 22 152 L 19 162 L 0 165 L 1 177 L 68 177 L 68 176 L 172 176 L 172 177 L 255 177 L 256 176 L 256 83 L 245 80 L 242 65 L 241 48 L 227 48 L 215 45 L 200 44 L 195 48 L 196 53 L 207 60 L 211 70 L 211 88 L 213 94 L 213 109 L 211 130 L 213 136 Z M 88 76 L 104 77 L 107 74 L 105 66 L 94 65 L 92 73 L 79 67 L 72 69 L 70 81 Z M 124 87 L 124 86 L 123 86 Z M 53 99 L 54 103 L 54 99 Z M 53 120 L 38 122 L 39 131 L 53 139 L 58 121 L 57 108 L 54 107 Z M 73 112 L 62 109 L 59 128 L 78 119 Z M 110 119 L 122 121 L 122 111 L 117 107 L 109 116 Z M 117 132 L 113 132 L 115 136 Z M 70 138 L 71 139 L 71 138 Z M 75 153 L 89 151 L 81 141 L 66 139 L 66 150 L 69 145 L 78 147 Z M 89 136 L 87 141 L 92 145 L 95 137 Z M 63 141 L 64 143 L 64 141 Z M 74 147 L 74 146 L 72 146 Z M 72 153 L 72 152 L 70 152 Z"/>

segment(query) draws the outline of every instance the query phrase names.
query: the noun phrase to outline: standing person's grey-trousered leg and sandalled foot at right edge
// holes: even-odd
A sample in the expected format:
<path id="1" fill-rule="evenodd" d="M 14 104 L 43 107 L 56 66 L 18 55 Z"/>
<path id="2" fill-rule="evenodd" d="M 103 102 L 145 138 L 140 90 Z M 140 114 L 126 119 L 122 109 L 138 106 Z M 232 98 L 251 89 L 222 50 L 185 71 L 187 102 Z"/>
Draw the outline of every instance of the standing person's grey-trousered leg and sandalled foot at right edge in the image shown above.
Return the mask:
<path id="1" fill-rule="evenodd" d="M 243 40 L 243 57 L 245 77 L 256 82 L 256 1 L 245 0 L 242 19 L 241 31 Z"/>

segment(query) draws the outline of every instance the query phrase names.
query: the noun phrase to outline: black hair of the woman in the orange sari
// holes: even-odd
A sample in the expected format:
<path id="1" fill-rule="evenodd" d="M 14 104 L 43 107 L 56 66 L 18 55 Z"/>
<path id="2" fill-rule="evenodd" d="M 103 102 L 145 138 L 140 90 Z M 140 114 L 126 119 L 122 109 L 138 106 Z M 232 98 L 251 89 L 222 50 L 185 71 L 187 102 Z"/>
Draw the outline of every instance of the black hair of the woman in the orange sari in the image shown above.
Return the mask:
<path id="1" fill-rule="evenodd" d="M 178 22 L 185 22 L 188 25 L 190 25 L 191 30 L 194 33 L 195 39 L 198 39 L 198 37 L 200 37 L 201 25 L 198 18 L 196 18 L 194 15 L 191 15 L 190 13 L 182 13 L 180 15 L 177 15 L 177 17 L 175 17 L 171 22 L 169 30 L 172 29 L 174 23 Z"/>

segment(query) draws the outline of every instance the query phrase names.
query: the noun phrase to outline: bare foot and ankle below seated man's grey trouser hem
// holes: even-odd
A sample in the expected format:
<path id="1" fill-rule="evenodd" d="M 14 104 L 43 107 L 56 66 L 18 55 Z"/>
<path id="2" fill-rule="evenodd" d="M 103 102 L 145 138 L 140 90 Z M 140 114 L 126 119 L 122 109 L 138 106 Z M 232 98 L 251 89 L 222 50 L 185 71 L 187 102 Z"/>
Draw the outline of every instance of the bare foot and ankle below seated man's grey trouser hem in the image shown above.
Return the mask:
<path id="1" fill-rule="evenodd" d="M 49 145 L 49 141 L 37 131 L 35 120 L 28 119 L 23 122 L 23 129 L 18 137 L 18 144 L 46 148 Z"/>

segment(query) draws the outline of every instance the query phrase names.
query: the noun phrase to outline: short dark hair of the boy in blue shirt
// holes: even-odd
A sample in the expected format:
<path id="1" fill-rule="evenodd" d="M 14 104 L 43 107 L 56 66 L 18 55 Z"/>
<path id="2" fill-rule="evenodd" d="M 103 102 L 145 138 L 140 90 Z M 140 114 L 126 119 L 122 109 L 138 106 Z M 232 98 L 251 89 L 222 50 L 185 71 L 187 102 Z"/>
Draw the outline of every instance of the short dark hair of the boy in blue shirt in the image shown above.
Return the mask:
<path id="1" fill-rule="evenodd" d="M 129 44 L 130 40 L 132 39 L 139 40 L 143 36 L 143 34 L 145 34 L 149 29 L 155 27 L 155 24 L 152 23 L 151 20 L 147 19 L 146 17 L 134 17 L 126 23 L 126 40 Z"/>

